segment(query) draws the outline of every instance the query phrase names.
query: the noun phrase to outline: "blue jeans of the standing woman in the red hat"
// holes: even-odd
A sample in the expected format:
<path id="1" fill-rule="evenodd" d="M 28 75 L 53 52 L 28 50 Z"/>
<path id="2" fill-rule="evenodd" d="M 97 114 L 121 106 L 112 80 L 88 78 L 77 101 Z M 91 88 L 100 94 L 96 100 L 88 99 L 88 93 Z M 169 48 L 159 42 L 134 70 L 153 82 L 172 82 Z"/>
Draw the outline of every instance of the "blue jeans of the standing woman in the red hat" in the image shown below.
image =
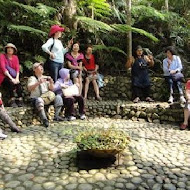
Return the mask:
<path id="1" fill-rule="evenodd" d="M 60 69 L 62 69 L 62 63 L 49 60 L 49 74 L 54 82 L 56 82 L 59 77 Z"/>

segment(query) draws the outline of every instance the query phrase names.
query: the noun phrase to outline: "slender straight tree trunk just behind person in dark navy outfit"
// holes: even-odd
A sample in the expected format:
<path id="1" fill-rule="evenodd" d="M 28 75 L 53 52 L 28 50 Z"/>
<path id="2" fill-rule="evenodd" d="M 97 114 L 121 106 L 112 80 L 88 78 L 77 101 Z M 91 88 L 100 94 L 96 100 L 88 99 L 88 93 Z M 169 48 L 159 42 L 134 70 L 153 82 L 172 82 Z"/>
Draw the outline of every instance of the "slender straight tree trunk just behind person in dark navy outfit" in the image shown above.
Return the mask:
<path id="1" fill-rule="evenodd" d="M 127 3 L 127 25 L 131 26 L 131 0 L 126 0 Z M 127 33 L 127 58 L 132 56 L 132 32 Z"/>

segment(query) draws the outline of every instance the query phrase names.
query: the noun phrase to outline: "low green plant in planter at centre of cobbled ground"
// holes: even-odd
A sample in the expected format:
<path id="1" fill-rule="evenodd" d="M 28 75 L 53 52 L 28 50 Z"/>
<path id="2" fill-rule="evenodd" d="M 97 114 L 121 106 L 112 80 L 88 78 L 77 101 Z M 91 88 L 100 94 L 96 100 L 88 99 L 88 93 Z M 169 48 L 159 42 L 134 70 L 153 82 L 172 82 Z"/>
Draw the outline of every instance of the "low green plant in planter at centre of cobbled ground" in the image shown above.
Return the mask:
<path id="1" fill-rule="evenodd" d="M 80 132 L 75 137 L 78 149 L 81 151 L 99 150 L 104 153 L 121 152 L 130 142 L 129 136 L 123 131 L 115 129 L 91 129 Z"/>

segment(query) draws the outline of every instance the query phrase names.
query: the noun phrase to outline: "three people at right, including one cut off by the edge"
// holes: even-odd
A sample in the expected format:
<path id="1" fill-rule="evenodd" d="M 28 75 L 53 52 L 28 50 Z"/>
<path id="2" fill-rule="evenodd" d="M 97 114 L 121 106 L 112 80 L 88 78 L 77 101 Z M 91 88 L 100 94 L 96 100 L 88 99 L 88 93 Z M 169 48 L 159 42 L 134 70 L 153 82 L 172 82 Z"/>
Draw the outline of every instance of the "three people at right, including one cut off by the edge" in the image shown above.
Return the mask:
<path id="1" fill-rule="evenodd" d="M 163 60 L 163 73 L 169 88 L 168 103 L 174 102 L 174 86 L 177 86 L 180 95 L 180 103 L 184 105 L 184 122 L 180 125 L 181 130 L 188 127 L 188 119 L 190 116 L 190 80 L 186 83 L 186 99 L 184 97 L 182 82 L 184 76 L 181 73 L 183 67 L 181 59 L 176 55 L 173 47 L 167 47 L 165 50 L 166 58 Z M 138 103 L 141 99 L 153 102 L 150 97 L 150 78 L 148 68 L 154 66 L 153 56 L 144 55 L 143 48 L 137 46 L 135 54 L 130 57 L 126 63 L 127 68 L 131 68 L 133 102 Z"/>

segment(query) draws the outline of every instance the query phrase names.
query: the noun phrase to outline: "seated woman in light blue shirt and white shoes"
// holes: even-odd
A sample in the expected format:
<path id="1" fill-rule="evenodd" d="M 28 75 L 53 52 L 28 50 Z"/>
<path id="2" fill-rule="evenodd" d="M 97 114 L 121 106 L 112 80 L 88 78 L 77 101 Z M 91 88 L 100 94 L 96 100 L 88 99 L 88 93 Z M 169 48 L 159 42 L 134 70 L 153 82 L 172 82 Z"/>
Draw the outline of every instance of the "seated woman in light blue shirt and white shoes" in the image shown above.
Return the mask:
<path id="1" fill-rule="evenodd" d="M 163 71 L 164 71 L 164 77 L 168 83 L 169 91 L 170 91 L 170 97 L 168 99 L 168 103 L 172 104 L 174 101 L 173 87 L 175 84 L 177 84 L 177 88 L 180 94 L 180 102 L 184 104 L 186 100 L 183 95 L 183 88 L 182 88 L 182 83 L 181 83 L 182 78 L 178 77 L 181 75 L 181 70 L 183 69 L 182 64 L 181 64 L 181 59 L 179 56 L 176 55 L 173 47 L 167 47 L 165 52 L 166 52 L 167 58 L 163 60 Z M 177 77 L 179 79 L 177 79 Z"/>

